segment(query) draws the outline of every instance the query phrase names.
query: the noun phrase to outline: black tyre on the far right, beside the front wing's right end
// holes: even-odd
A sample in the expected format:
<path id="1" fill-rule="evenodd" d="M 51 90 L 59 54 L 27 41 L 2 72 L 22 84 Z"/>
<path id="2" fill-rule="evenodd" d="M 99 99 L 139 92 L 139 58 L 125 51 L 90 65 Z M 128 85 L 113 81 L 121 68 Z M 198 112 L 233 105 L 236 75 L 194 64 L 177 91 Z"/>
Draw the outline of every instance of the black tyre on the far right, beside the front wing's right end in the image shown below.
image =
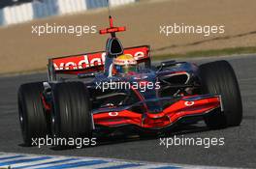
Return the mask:
<path id="1" fill-rule="evenodd" d="M 216 61 L 199 67 L 203 94 L 220 95 L 224 112 L 205 117 L 209 128 L 240 126 L 242 104 L 239 83 L 232 66 L 227 61 Z"/>

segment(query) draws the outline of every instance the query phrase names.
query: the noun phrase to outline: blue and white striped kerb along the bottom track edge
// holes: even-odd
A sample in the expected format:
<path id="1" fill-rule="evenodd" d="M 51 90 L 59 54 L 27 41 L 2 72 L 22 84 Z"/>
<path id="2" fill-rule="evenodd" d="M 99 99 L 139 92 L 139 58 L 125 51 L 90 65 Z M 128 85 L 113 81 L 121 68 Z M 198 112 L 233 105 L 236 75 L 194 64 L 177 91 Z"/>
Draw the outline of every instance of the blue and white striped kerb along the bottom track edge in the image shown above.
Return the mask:
<path id="1" fill-rule="evenodd" d="M 64 169 L 64 168 L 97 168 L 97 169 L 121 169 L 144 167 L 150 169 L 182 169 L 182 166 L 177 166 L 172 163 L 149 163 L 139 161 L 123 161 L 110 158 L 93 158 L 93 157 L 76 157 L 76 156 L 51 156 L 51 155 L 14 155 L 0 153 L 0 168 L 1 166 L 11 166 L 14 169 Z M 50 159 L 50 161 L 45 160 Z M 1 162 L 2 161 L 2 162 Z M 34 163 L 33 163 L 34 162 Z M 104 166 L 99 166 L 104 164 Z M 207 168 L 204 166 L 188 165 L 186 168 Z M 212 167 L 213 168 L 213 167 Z"/>

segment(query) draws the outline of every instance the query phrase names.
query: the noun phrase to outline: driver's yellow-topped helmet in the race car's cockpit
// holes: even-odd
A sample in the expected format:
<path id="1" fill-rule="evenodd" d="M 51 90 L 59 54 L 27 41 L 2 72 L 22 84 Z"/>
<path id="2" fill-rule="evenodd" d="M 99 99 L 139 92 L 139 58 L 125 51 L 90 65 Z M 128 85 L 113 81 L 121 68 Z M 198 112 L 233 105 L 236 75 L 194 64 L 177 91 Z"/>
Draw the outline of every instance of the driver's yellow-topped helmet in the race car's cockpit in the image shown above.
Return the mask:
<path id="1" fill-rule="evenodd" d="M 137 70 L 137 61 L 131 55 L 120 55 L 113 60 L 113 65 L 116 72 L 128 73 Z"/>

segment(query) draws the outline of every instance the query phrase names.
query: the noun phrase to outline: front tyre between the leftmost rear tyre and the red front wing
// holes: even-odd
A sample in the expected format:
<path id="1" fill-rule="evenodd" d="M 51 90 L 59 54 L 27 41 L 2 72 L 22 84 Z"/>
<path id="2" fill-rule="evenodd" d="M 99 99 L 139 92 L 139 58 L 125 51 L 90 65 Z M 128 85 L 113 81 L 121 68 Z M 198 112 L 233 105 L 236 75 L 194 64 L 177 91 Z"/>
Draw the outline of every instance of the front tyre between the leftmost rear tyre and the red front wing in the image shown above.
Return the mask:
<path id="1" fill-rule="evenodd" d="M 82 82 L 57 83 L 52 91 L 51 127 L 57 138 L 90 138 L 92 117 L 88 90 Z"/>

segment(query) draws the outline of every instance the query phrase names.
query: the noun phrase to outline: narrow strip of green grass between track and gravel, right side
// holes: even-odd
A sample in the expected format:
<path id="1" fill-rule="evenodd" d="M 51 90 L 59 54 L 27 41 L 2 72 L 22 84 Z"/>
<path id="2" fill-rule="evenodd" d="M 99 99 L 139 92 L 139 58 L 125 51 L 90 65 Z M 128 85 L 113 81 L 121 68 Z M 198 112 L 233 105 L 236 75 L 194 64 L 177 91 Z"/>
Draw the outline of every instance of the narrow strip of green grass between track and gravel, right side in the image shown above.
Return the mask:
<path id="1" fill-rule="evenodd" d="M 249 54 L 256 53 L 256 46 L 249 47 L 234 47 L 234 48 L 224 48 L 216 50 L 200 50 L 200 51 L 191 51 L 184 54 L 163 54 L 155 55 L 152 57 L 154 61 L 168 59 L 168 58 L 190 58 L 190 57 L 209 57 L 209 56 L 224 56 L 224 55 L 234 55 L 234 54 Z"/>

